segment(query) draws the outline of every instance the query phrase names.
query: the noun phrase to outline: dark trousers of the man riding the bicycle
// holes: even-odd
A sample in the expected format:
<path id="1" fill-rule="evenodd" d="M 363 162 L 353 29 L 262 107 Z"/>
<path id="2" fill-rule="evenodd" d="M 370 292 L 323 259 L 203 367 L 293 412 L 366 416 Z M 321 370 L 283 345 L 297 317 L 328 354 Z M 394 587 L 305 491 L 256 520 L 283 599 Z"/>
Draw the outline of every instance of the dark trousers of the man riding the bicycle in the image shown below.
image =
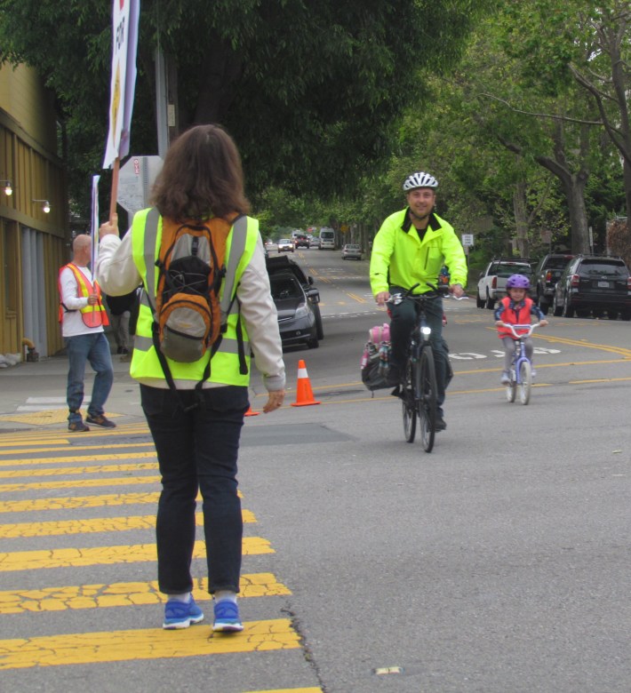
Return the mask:
<path id="1" fill-rule="evenodd" d="M 398 286 L 390 287 L 390 293 L 404 293 L 405 289 Z M 403 373 L 407 360 L 408 344 L 411 331 L 417 320 L 417 308 L 412 301 L 403 301 L 398 306 L 388 304 L 390 314 L 390 362 Z M 443 415 L 444 391 L 451 379 L 449 350 L 443 339 L 443 299 L 440 297 L 427 301 L 425 304 L 427 325 L 432 334 L 429 342 L 434 352 L 436 371 L 436 404 L 441 416 Z"/>

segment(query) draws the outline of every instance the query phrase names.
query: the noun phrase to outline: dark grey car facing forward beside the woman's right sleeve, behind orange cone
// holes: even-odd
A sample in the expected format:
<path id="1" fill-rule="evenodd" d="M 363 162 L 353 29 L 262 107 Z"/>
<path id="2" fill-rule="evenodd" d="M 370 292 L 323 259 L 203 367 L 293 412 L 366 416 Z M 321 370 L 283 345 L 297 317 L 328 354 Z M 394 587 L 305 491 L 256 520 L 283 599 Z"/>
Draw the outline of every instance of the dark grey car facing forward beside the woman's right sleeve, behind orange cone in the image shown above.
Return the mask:
<path id="1" fill-rule="evenodd" d="M 283 345 L 318 346 L 313 304 L 292 272 L 279 272 L 269 277 L 272 299 L 278 311 L 278 327 Z"/>

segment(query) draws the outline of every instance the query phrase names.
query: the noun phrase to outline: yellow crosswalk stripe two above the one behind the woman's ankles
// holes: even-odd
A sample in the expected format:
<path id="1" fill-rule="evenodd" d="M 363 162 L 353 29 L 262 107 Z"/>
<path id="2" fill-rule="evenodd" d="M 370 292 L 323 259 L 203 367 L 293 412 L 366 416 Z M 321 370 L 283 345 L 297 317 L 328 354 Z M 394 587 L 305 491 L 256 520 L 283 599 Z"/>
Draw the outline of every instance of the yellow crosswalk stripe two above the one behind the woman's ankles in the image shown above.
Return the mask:
<path id="1" fill-rule="evenodd" d="M 244 522 L 256 522 L 250 510 L 241 511 Z M 204 526 L 204 515 L 196 513 L 196 524 Z M 89 520 L 52 520 L 50 522 L 15 522 L 0 524 L 0 539 L 20 537 L 59 537 L 66 534 L 93 534 L 95 532 L 124 532 L 154 530 L 156 515 L 125 517 L 96 517 Z"/>

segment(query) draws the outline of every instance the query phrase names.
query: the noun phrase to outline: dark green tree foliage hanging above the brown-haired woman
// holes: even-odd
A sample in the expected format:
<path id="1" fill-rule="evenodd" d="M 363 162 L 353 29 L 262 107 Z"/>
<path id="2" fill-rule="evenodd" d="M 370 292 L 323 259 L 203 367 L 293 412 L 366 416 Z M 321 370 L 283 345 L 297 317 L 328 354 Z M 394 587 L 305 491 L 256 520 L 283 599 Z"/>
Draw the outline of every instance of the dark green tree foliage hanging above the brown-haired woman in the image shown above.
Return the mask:
<path id="1" fill-rule="evenodd" d="M 331 195 L 389 154 L 419 66 L 459 57 L 474 0 L 142 0 L 132 151 L 156 151 L 154 52 L 177 69 L 182 127 L 219 122 L 248 190 Z M 56 96 L 72 194 L 89 188 L 107 133 L 109 3 L 0 0 L 0 60 L 35 67 Z M 85 193 L 84 193 L 85 195 Z"/>

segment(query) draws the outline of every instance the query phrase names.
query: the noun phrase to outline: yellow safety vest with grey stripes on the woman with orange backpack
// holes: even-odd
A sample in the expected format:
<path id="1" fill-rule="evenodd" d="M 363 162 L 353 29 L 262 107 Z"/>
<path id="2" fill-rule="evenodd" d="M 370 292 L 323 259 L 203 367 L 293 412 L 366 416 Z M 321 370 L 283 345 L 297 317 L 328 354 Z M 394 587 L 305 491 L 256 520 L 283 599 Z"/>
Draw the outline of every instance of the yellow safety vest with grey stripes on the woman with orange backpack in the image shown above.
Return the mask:
<path id="1" fill-rule="evenodd" d="M 156 241 L 151 243 L 148 227 L 156 227 Z M 140 312 L 133 343 L 133 356 L 130 374 L 139 380 L 147 378 L 164 379 L 164 370 L 156 354 L 153 340 L 154 315 L 151 305 L 156 305 L 156 285 L 162 239 L 162 218 L 156 208 L 142 210 L 135 214 L 132 222 L 132 256 L 142 277 L 143 294 L 140 299 Z M 248 386 L 250 384 L 250 344 L 239 316 L 238 301 L 234 300 L 236 287 L 241 281 L 244 269 L 251 260 L 259 239 L 259 222 L 251 217 L 235 220 L 226 242 L 226 276 L 221 283 L 220 307 L 222 315 L 227 315 L 227 329 L 220 346 L 212 356 L 212 368 L 208 380 L 221 385 Z M 151 247 L 153 246 L 153 247 Z M 150 272 L 150 274 L 148 274 Z M 148 301 L 147 294 L 151 297 Z M 229 311 L 229 312 L 228 312 Z M 223 322 L 223 321 L 222 321 Z M 240 363 L 239 339 L 241 330 L 244 343 L 244 363 Z M 204 370 L 210 361 L 211 352 L 206 351 L 199 361 L 182 363 L 167 359 L 173 380 L 199 383 L 204 378 Z"/>

